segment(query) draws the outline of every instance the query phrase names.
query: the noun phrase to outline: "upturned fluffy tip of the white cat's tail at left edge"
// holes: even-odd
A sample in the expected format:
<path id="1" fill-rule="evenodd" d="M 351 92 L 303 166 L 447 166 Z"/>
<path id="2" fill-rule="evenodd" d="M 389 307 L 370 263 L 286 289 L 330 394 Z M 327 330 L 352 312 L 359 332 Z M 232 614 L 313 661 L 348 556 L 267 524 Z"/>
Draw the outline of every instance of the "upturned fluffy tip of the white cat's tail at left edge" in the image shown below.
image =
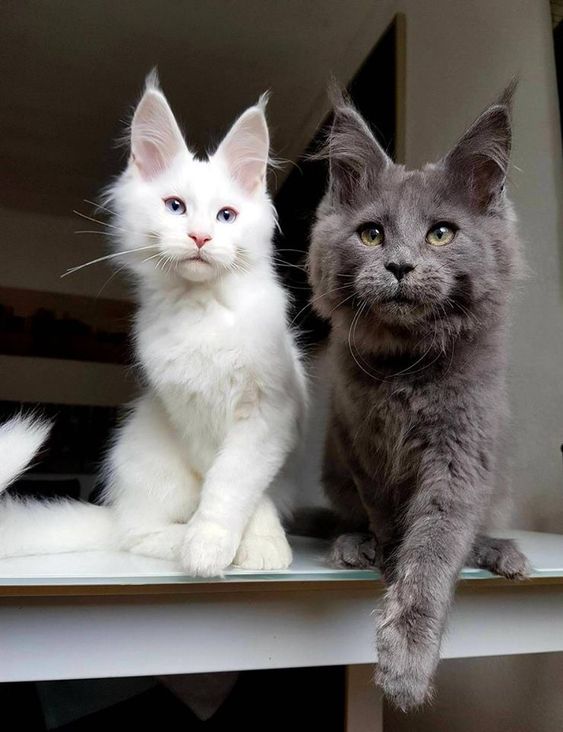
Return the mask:
<path id="1" fill-rule="evenodd" d="M 0 493 L 27 468 L 50 429 L 35 417 L 13 417 L 0 425 Z"/>

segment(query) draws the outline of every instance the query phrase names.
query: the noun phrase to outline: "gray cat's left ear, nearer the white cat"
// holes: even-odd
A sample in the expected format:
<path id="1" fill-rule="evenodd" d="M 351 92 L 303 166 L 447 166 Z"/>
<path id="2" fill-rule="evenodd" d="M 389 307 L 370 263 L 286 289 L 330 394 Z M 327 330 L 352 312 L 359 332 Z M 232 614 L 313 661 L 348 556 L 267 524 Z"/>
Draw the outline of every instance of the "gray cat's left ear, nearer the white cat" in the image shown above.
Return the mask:
<path id="1" fill-rule="evenodd" d="M 333 87 L 330 96 L 334 106 L 327 139 L 330 192 L 335 200 L 348 204 L 392 161 L 342 92 Z"/>

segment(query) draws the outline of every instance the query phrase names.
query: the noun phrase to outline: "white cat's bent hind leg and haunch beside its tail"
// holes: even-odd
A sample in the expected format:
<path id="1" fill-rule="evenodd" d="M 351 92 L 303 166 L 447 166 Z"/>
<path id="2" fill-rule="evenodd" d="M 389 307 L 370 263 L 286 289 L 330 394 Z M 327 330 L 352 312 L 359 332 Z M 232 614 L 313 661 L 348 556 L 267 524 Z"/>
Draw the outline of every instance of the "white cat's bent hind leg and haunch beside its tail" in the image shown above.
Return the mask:
<path id="1" fill-rule="evenodd" d="M 161 405 L 139 401 L 108 458 L 108 498 L 121 548 L 178 559 L 201 484 L 190 470 Z"/>

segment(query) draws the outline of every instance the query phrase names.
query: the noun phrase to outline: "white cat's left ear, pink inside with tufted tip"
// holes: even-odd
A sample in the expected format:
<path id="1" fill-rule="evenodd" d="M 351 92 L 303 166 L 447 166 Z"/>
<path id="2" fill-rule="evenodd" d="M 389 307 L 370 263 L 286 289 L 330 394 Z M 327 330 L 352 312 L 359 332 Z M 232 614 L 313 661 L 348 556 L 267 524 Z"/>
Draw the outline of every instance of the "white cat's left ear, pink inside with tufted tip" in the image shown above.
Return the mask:
<path id="1" fill-rule="evenodd" d="M 156 72 L 147 76 L 145 93 L 131 122 L 131 163 L 145 180 L 164 172 L 186 143 L 158 84 Z"/>

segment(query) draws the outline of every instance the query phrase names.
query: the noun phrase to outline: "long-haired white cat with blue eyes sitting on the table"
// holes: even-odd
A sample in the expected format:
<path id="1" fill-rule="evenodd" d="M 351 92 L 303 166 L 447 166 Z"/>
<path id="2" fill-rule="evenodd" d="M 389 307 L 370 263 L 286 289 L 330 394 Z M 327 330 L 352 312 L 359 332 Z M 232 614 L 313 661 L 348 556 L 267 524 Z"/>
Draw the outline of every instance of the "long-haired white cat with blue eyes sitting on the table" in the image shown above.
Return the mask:
<path id="1" fill-rule="evenodd" d="M 290 564 L 268 493 L 297 442 L 306 384 L 272 261 L 264 104 L 198 160 L 149 76 L 107 195 L 136 282 L 145 391 L 109 451 L 107 505 L 4 499 L 0 556 L 119 547 L 199 576 Z"/>

